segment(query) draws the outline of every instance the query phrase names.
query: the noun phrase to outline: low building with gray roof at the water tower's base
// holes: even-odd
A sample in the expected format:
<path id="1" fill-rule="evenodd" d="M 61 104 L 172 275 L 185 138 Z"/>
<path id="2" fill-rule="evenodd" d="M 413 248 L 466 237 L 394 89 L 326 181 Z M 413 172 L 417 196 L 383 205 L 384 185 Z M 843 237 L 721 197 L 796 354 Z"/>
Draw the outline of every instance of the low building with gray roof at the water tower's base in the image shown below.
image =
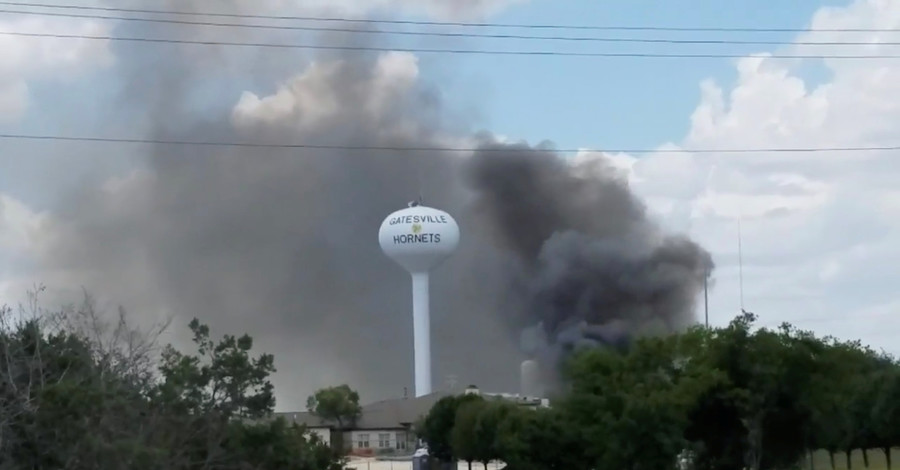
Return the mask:
<path id="1" fill-rule="evenodd" d="M 548 406 L 546 399 L 521 397 L 512 394 L 481 393 L 470 386 L 467 394 L 479 394 L 488 399 L 509 400 L 521 406 Z M 416 450 L 416 435 L 413 427 L 424 418 L 438 400 L 449 396 L 448 392 L 435 392 L 418 398 L 397 398 L 383 400 L 362 407 L 362 414 L 355 425 L 341 432 L 337 423 L 327 422 L 309 412 L 275 413 L 288 423 L 296 423 L 318 435 L 328 445 L 343 442 L 345 451 L 358 455 L 372 454 L 412 454 Z M 342 438 L 340 441 L 338 437 Z"/>

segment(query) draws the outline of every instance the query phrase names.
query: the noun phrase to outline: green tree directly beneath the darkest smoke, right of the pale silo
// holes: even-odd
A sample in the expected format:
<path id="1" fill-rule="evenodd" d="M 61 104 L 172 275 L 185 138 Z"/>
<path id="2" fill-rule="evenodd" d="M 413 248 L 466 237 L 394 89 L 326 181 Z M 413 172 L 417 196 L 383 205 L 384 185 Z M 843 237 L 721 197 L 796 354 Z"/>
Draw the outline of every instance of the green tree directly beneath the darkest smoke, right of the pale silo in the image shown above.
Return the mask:
<path id="1" fill-rule="evenodd" d="M 671 468 L 689 447 L 689 412 L 721 376 L 688 355 L 703 332 L 637 341 L 626 354 L 584 351 L 568 370 L 571 393 L 558 404 L 584 436 L 594 468 Z"/>

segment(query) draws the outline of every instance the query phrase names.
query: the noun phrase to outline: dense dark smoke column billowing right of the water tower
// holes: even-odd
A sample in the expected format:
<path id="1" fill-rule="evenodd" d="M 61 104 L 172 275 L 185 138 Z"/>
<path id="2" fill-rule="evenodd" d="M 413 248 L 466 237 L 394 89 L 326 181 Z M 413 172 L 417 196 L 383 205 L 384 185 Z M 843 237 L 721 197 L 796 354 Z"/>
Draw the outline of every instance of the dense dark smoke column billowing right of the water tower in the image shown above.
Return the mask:
<path id="1" fill-rule="evenodd" d="M 479 222 L 521 262 L 514 320 L 541 330 L 524 349 L 557 364 L 578 346 L 621 349 L 690 323 L 709 253 L 661 233 L 608 162 L 529 150 L 491 144 L 468 167 Z"/>

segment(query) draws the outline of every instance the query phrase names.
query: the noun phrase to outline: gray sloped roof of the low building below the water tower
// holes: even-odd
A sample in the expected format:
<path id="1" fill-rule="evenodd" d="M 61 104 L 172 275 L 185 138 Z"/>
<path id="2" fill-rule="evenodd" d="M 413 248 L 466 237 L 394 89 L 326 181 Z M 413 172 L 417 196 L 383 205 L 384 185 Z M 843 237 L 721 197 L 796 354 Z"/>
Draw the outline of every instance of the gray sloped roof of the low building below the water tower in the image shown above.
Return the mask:
<path id="1" fill-rule="evenodd" d="M 450 395 L 436 392 L 418 398 L 396 398 L 383 400 L 362 407 L 362 415 L 356 421 L 354 429 L 405 429 L 428 414 L 431 407 L 441 398 Z M 334 428 L 337 423 L 323 420 L 308 411 L 275 413 L 288 422 L 304 425 L 309 428 Z"/>

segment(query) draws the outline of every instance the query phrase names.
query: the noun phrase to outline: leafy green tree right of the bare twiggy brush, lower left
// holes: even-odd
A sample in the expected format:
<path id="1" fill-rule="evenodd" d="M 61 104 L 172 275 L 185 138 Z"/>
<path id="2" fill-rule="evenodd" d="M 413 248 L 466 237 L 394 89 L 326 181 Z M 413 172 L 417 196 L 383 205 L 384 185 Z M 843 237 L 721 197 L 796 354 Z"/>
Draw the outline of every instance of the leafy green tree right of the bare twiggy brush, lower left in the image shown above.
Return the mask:
<path id="1" fill-rule="evenodd" d="M 268 420 L 275 406 L 272 355 L 251 357 L 247 335 L 214 342 L 206 325 L 195 319 L 189 327 L 198 355 L 167 347 L 162 381 L 150 394 L 151 406 L 168 421 L 163 439 L 180 468 L 340 468 L 340 456 L 314 436 Z"/>

